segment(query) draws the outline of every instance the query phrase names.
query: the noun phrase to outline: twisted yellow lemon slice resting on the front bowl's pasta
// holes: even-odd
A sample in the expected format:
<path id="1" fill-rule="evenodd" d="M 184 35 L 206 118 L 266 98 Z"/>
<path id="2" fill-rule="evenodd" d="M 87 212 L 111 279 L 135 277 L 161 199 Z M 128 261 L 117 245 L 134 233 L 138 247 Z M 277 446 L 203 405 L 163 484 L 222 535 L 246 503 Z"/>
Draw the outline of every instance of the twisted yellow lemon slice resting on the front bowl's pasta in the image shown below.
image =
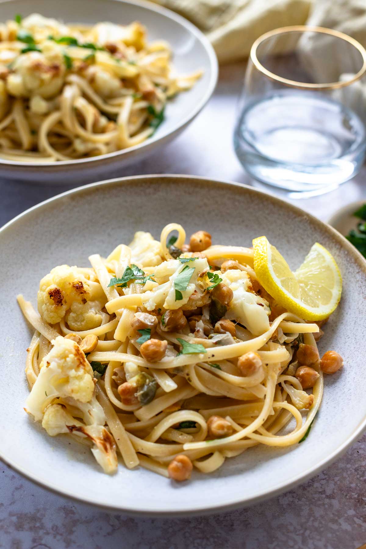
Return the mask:
<path id="1" fill-rule="evenodd" d="M 317 242 L 292 272 L 266 237 L 253 240 L 254 269 L 263 288 L 288 311 L 304 320 L 323 320 L 339 304 L 342 277 L 334 257 Z"/>

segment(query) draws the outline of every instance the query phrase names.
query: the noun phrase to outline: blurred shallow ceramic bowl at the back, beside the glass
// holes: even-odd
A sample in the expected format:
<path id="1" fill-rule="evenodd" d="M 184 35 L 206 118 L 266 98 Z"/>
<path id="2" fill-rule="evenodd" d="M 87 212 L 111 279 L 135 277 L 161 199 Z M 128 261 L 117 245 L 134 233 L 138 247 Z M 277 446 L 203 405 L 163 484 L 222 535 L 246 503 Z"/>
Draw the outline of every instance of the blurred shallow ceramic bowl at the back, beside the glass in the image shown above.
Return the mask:
<path id="1" fill-rule="evenodd" d="M 117 168 L 153 152 L 171 141 L 188 126 L 210 99 L 217 82 L 218 65 L 210 42 L 183 17 L 150 2 L 140 0 L 0 0 L 0 21 L 36 12 L 65 23 L 94 25 L 99 21 L 129 24 L 140 21 L 147 27 L 148 40 L 166 40 L 173 51 L 173 64 L 179 74 L 203 70 L 195 86 L 170 100 L 165 120 L 153 137 L 115 153 L 80 160 L 52 163 L 16 162 L 0 159 L 0 177 L 35 183 L 91 182 L 105 178 Z"/>

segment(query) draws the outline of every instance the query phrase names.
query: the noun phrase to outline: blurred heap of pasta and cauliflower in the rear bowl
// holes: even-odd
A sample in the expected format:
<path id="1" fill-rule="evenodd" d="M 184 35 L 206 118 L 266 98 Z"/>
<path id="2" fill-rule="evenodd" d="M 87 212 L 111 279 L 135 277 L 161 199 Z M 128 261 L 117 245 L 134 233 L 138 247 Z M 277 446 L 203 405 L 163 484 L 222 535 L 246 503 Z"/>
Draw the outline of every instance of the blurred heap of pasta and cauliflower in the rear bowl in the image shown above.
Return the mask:
<path id="1" fill-rule="evenodd" d="M 72 160 L 142 143 L 201 76 L 176 75 L 171 57 L 136 21 L 86 27 L 33 13 L 0 24 L 0 158 Z"/>

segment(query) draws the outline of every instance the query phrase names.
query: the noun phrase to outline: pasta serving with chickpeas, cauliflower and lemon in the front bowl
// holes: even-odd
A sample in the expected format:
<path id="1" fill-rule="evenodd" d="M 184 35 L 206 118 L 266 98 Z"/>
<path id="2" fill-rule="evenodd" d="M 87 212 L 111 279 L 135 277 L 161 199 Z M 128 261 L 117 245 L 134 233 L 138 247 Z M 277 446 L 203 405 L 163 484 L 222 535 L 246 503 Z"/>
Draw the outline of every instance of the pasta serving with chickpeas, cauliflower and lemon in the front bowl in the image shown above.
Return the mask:
<path id="1" fill-rule="evenodd" d="M 39 315 L 18 296 L 36 330 L 26 412 L 50 436 L 89 445 L 106 473 L 116 472 L 119 452 L 127 468 L 177 481 L 258 444 L 305 440 L 323 372 L 343 364 L 335 351 L 320 358 L 317 350 L 341 276 L 314 244 L 281 278 L 289 267 L 263 238 L 253 248 L 212 245 L 199 231 L 186 244 L 183 227 L 170 223 L 160 240 L 139 231 L 105 259 L 91 255 L 91 267 L 53 268 L 40 283 Z"/>

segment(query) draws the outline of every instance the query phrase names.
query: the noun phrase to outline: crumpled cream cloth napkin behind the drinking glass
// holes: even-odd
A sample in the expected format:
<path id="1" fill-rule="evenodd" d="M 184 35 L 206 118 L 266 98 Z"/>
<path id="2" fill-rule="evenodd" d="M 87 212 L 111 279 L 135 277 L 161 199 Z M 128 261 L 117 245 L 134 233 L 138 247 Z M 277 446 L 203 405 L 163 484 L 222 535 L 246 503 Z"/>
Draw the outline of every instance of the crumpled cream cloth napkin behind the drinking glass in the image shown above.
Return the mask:
<path id="1" fill-rule="evenodd" d="M 366 0 L 153 0 L 189 19 L 220 63 L 248 57 L 264 32 L 287 25 L 337 29 L 366 47 Z"/>

